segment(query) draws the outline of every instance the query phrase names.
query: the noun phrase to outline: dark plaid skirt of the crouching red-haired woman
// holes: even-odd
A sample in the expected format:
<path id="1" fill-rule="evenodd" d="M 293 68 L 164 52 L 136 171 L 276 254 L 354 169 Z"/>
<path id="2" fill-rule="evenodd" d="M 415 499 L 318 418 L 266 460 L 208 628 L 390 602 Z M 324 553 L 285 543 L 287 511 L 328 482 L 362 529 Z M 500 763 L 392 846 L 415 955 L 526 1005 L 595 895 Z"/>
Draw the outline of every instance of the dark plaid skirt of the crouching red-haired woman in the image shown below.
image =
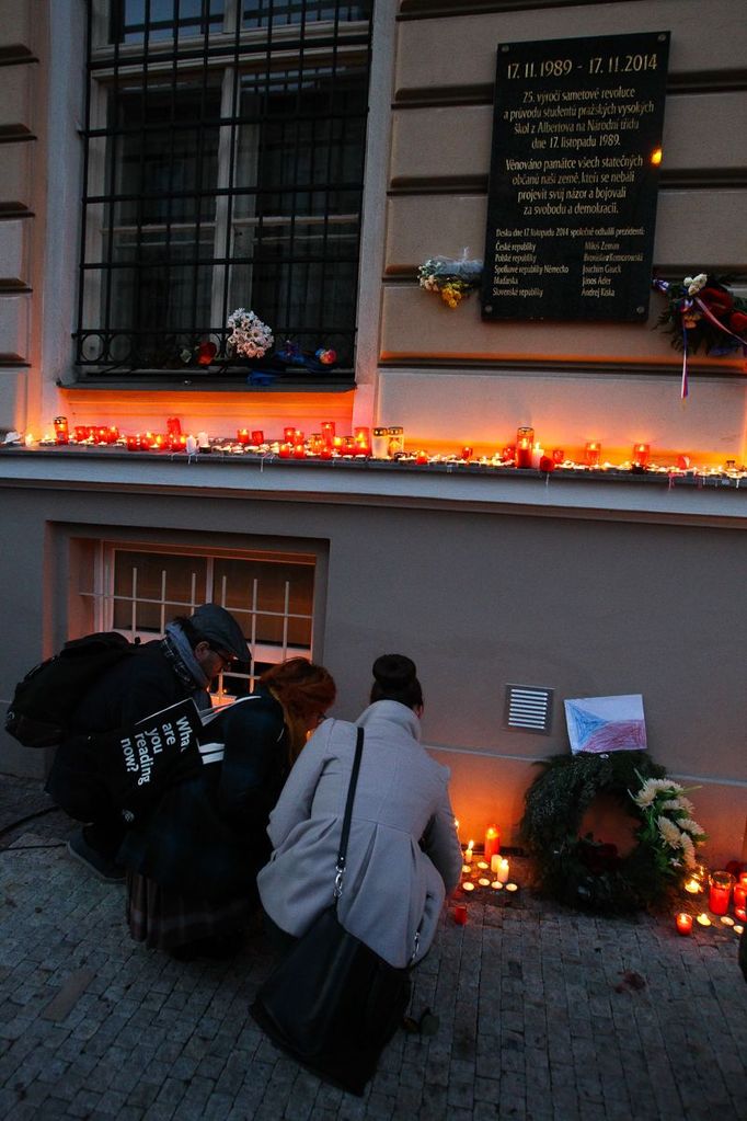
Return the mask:
<path id="1" fill-rule="evenodd" d="M 233 934 L 254 909 L 248 897 L 222 902 L 183 896 L 138 872 L 127 873 L 127 920 L 136 942 L 174 949 L 198 938 Z"/>

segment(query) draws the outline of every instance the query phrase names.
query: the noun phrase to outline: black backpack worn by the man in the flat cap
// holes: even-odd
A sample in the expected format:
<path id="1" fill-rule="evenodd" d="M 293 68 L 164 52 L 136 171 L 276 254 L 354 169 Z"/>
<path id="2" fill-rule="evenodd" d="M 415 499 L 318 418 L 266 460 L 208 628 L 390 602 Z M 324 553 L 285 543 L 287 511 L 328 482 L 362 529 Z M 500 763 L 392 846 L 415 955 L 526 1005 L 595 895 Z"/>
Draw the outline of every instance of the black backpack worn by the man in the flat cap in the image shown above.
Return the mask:
<path id="1" fill-rule="evenodd" d="M 137 649 L 137 643 L 116 631 L 66 642 L 59 654 L 29 669 L 18 683 L 6 732 L 26 748 L 56 747 L 73 731 L 73 714 L 104 670 Z"/>

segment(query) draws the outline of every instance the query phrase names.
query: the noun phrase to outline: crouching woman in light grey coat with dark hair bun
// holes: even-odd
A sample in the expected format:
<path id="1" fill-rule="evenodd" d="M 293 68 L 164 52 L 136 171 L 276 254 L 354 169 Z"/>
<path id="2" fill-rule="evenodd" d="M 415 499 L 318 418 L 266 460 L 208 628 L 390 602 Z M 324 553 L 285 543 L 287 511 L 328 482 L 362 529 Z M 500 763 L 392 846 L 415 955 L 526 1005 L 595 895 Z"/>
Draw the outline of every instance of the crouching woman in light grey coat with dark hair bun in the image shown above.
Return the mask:
<path id="1" fill-rule="evenodd" d="M 273 852 L 258 888 L 276 945 L 300 937 L 332 904 L 356 733 L 363 728 L 337 914 L 346 930 L 402 967 L 429 949 L 443 899 L 459 882 L 461 850 L 449 771 L 419 742 L 423 702 L 414 663 L 383 655 L 373 674 L 372 703 L 358 720 L 326 720 L 293 765 L 270 815 Z"/>

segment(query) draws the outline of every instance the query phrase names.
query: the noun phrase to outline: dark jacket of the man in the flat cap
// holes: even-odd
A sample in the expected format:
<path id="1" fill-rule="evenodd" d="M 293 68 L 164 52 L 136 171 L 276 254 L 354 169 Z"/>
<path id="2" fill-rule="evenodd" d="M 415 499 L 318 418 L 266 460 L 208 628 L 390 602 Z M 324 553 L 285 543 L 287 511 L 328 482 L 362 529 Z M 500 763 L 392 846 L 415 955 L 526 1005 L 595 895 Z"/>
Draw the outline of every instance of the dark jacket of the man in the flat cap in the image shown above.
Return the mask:
<path id="1" fill-rule="evenodd" d="M 47 793 L 77 821 L 121 824 L 100 770 L 104 750 L 100 738 L 187 697 L 199 708 L 209 706 L 207 693 L 179 676 L 160 640 L 136 649 L 99 678 L 75 712 L 75 734 L 57 748 Z"/>

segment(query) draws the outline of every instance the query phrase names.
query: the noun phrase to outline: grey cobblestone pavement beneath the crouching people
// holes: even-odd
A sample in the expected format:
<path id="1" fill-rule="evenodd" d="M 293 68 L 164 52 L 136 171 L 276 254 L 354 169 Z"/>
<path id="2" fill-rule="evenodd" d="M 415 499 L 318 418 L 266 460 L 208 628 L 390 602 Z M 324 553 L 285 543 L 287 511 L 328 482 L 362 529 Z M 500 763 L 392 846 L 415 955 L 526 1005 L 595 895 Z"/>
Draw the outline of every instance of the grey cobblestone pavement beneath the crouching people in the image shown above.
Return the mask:
<path id="1" fill-rule="evenodd" d="M 120 887 L 66 854 L 74 825 L 0 777 L 0 1115 L 7 1121 L 747 1119 L 747 984 L 734 932 L 603 919 L 473 892 L 445 914 L 412 1011 L 364 1097 L 321 1084 L 248 1016 L 271 958 L 133 944 Z M 13 816 L 15 815 L 15 816 Z M 521 880 L 521 862 L 517 879 Z"/>

